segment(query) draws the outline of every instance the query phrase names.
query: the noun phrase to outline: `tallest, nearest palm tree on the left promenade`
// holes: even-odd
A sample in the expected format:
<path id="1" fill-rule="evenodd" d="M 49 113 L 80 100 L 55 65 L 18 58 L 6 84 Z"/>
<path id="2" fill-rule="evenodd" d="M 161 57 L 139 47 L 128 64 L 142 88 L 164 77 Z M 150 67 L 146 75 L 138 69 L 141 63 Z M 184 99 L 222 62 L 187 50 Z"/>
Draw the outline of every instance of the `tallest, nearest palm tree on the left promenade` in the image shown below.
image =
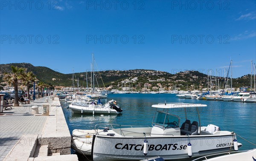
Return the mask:
<path id="1" fill-rule="evenodd" d="M 19 106 L 19 98 L 18 98 L 18 80 L 22 79 L 24 75 L 25 68 L 18 68 L 17 66 L 11 66 L 12 72 L 4 73 L 3 80 L 6 80 L 9 85 L 14 86 L 15 91 L 15 100 L 14 106 Z"/>

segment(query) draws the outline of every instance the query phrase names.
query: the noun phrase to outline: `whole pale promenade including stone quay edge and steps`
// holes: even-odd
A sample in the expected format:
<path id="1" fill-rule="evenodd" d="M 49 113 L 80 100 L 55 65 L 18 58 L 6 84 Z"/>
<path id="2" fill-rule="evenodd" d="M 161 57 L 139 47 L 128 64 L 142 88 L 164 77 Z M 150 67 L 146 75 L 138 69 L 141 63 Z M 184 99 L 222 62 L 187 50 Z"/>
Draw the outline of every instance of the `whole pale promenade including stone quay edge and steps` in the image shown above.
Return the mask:
<path id="1" fill-rule="evenodd" d="M 46 98 L 49 102 L 45 102 Z M 39 107 L 39 114 L 32 114 L 34 105 Z M 42 115 L 42 105 L 50 105 L 49 116 Z M 58 98 L 40 98 L 0 113 L 0 161 L 77 161 L 76 155 L 70 155 L 70 146 L 71 137 Z M 42 150 L 46 151 L 44 155 L 40 155 Z"/>

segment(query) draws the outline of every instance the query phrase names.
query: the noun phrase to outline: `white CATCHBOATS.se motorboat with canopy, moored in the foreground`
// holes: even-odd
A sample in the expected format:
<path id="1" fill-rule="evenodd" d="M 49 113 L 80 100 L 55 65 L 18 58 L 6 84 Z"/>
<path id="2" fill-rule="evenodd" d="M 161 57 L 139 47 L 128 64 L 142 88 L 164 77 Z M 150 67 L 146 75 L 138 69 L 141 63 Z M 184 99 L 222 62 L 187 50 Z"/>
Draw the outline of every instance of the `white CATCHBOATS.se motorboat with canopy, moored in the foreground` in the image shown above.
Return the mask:
<path id="1" fill-rule="evenodd" d="M 233 132 L 220 131 L 215 125 L 201 126 L 198 108 L 203 110 L 207 105 L 160 103 L 152 107 L 156 108 L 152 127 L 97 124 L 92 130 L 75 129 L 71 146 L 76 152 L 92 155 L 94 161 L 141 160 L 145 155 L 181 159 L 238 150 L 242 146 Z M 174 110 L 184 110 L 185 122 L 181 126 Z M 198 114 L 199 124 L 191 124 L 188 118 L 195 115 L 188 115 L 189 112 Z"/>

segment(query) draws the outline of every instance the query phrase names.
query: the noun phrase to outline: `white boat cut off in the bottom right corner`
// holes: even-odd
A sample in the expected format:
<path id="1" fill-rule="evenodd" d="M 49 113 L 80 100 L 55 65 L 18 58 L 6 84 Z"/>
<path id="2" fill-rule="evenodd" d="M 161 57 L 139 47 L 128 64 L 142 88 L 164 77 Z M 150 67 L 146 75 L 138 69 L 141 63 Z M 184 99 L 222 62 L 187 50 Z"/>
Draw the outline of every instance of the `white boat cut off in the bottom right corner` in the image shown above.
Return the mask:
<path id="1" fill-rule="evenodd" d="M 256 149 L 244 150 L 241 152 L 224 152 L 221 154 L 207 155 L 194 159 L 193 161 L 256 161 Z"/>

